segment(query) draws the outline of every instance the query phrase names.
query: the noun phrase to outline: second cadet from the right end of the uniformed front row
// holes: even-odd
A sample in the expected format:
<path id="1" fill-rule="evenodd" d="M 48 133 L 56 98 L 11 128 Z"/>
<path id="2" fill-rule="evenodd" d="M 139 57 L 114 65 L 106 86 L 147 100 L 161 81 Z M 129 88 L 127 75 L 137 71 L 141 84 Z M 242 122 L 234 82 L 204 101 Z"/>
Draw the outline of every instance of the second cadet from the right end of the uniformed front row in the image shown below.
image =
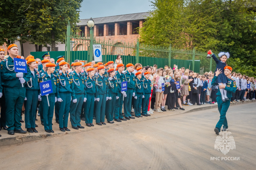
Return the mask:
<path id="1" fill-rule="evenodd" d="M 134 113 L 135 117 L 143 117 L 147 115 L 141 116 L 141 104 L 142 99 L 144 96 L 144 88 L 142 86 L 142 80 L 141 80 L 142 72 L 135 73 L 135 76 L 137 77 L 135 80 L 135 96 L 134 96 Z"/>

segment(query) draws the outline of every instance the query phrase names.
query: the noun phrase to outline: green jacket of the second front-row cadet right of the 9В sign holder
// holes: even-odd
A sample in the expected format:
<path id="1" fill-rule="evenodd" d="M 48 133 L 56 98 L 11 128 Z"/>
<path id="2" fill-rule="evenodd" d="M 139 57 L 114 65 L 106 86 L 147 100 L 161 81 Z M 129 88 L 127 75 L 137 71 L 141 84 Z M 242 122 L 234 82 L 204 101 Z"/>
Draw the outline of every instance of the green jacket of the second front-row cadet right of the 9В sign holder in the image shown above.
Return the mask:
<path id="1" fill-rule="evenodd" d="M 84 89 L 84 76 L 79 73 L 76 73 L 74 71 L 72 74 L 70 74 L 70 78 L 73 79 L 73 83 L 71 83 L 71 90 L 73 91 L 72 99 L 76 99 L 76 94 L 84 94 L 85 89 Z M 85 95 L 84 95 L 85 96 Z"/>

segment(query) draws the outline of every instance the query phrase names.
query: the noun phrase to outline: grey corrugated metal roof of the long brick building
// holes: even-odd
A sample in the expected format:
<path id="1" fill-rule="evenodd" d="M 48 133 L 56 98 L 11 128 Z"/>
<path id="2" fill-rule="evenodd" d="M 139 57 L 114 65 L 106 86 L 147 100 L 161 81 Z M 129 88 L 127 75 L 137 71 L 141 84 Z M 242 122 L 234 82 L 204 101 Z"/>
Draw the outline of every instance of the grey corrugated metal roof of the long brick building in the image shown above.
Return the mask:
<path id="1" fill-rule="evenodd" d="M 115 23 L 115 22 L 124 22 L 124 21 L 136 21 L 141 19 L 146 19 L 150 15 L 150 12 L 141 12 L 135 14 L 125 14 L 125 15 L 116 15 L 110 17 L 101 17 L 101 18 L 92 18 L 94 24 L 104 24 L 104 23 Z M 80 19 L 80 22 L 77 23 L 77 26 L 86 26 L 88 19 Z"/>

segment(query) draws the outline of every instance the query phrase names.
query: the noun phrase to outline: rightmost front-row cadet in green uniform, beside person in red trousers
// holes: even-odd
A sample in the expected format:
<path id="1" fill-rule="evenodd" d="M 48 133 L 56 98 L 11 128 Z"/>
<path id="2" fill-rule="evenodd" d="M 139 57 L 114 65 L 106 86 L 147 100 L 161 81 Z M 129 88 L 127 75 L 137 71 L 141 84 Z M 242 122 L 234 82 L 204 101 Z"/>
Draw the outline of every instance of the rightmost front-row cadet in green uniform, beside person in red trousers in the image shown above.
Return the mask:
<path id="1" fill-rule="evenodd" d="M 151 81 L 148 79 L 150 75 L 150 72 L 145 72 L 144 73 L 144 79 L 142 80 L 142 85 L 144 88 L 144 98 L 142 99 L 142 115 L 147 115 L 147 116 L 151 116 L 149 114 L 147 114 L 148 112 L 148 104 L 149 104 L 149 98 L 151 95 Z"/>

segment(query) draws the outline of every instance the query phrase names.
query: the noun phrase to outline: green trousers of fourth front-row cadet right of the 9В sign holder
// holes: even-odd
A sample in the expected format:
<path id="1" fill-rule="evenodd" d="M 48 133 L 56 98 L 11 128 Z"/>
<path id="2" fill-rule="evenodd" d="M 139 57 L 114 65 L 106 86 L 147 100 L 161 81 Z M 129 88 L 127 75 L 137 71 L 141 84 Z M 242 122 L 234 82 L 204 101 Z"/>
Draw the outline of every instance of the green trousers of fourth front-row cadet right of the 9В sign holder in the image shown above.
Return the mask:
<path id="1" fill-rule="evenodd" d="M 105 109 L 106 109 L 106 99 L 107 95 L 99 94 L 100 101 L 96 101 L 96 123 L 105 122 Z"/>

